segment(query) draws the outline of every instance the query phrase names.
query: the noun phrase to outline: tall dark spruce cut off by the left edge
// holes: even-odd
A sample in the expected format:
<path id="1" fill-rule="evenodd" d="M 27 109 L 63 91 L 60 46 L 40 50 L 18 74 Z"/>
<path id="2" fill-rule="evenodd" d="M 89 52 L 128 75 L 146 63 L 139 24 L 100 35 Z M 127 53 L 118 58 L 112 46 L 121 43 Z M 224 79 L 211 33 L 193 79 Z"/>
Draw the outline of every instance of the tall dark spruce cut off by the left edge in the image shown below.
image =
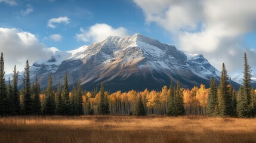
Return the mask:
<path id="1" fill-rule="evenodd" d="M 0 57 L 0 116 L 8 113 L 8 97 L 4 78 L 4 54 L 1 52 Z"/>

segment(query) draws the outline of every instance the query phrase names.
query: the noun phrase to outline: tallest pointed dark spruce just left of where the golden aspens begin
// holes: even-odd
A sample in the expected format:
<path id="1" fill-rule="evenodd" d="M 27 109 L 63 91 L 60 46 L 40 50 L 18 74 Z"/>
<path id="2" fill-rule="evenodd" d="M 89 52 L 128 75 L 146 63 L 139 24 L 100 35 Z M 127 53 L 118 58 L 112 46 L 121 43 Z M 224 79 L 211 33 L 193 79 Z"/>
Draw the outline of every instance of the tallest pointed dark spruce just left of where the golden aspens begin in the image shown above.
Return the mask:
<path id="1" fill-rule="evenodd" d="M 63 100 L 63 108 L 61 109 L 61 114 L 64 115 L 71 115 L 71 105 L 69 100 L 69 85 L 67 83 L 67 73 L 64 77 L 64 84 L 63 84 L 63 92 L 62 92 L 62 100 Z"/>

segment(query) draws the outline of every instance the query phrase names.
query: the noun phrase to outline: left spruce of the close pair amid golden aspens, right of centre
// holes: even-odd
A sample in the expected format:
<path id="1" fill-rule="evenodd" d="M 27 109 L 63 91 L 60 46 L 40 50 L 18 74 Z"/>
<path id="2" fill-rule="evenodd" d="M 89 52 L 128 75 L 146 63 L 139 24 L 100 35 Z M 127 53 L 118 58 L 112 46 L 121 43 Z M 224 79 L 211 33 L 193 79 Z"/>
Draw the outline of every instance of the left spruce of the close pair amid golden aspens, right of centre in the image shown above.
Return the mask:
<path id="1" fill-rule="evenodd" d="M 166 115 L 167 116 L 174 116 L 174 85 L 171 81 L 171 85 L 169 87 L 169 91 L 168 91 L 168 105 L 167 105 L 167 111 L 166 111 Z"/>

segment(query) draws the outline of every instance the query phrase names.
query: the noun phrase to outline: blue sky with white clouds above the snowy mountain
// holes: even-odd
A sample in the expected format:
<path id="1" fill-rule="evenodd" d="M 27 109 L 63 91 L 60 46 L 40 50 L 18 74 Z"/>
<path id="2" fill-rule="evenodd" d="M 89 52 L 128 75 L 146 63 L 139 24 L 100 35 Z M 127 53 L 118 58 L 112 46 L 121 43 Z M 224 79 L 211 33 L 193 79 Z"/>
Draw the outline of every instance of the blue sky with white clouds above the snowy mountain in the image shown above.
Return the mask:
<path id="1" fill-rule="evenodd" d="M 102 41 L 141 33 L 203 54 L 221 70 L 242 73 L 243 52 L 256 70 L 255 0 L 0 0 L 5 70 Z M 236 63 L 236 64 L 234 64 Z"/>

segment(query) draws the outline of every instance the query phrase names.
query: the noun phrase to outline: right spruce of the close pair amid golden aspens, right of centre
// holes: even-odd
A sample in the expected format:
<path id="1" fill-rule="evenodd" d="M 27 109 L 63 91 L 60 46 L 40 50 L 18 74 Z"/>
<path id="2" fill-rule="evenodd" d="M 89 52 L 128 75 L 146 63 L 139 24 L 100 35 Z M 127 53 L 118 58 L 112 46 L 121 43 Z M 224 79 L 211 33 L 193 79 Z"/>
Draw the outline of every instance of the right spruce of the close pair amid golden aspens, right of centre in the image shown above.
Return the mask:
<path id="1" fill-rule="evenodd" d="M 175 101 L 175 116 L 184 115 L 184 102 L 183 102 L 183 93 L 181 92 L 180 88 L 180 81 L 177 81 L 177 88 L 176 88 L 176 100 Z"/>

